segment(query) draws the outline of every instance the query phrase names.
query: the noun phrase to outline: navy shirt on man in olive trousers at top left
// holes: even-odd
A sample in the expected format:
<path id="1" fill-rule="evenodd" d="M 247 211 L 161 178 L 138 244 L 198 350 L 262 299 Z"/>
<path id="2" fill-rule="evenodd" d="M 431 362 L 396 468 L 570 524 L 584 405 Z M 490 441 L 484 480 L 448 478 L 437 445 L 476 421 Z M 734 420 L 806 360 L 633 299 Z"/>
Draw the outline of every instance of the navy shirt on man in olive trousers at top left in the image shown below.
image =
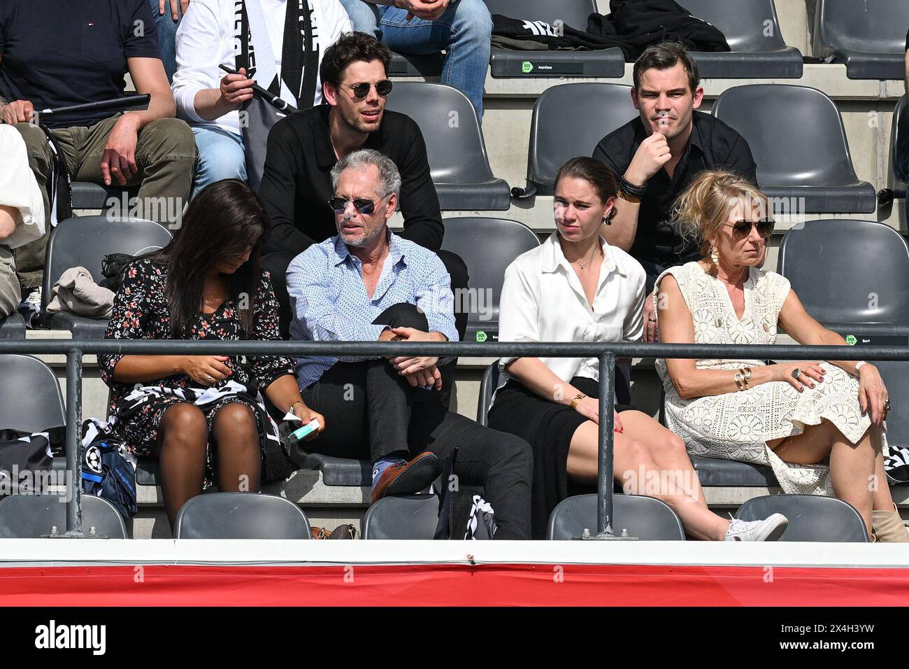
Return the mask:
<path id="1" fill-rule="evenodd" d="M 123 97 L 126 58 L 161 57 L 148 0 L 0 0 L 0 55 L 0 95 L 35 111 Z M 112 115 L 41 122 L 87 127 Z"/>

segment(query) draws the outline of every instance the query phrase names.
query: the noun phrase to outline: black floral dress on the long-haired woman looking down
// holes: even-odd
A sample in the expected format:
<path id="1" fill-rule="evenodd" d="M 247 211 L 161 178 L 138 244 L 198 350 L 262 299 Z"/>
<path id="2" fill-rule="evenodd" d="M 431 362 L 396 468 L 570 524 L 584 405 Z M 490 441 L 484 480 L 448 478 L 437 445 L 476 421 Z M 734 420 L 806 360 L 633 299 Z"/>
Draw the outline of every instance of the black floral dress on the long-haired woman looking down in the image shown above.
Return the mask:
<path id="1" fill-rule="evenodd" d="M 165 285 L 167 283 L 167 269 L 164 264 L 142 258 L 130 263 L 123 275 L 123 283 L 114 299 L 114 311 L 105 332 L 106 339 L 126 340 L 169 340 L 170 319 L 167 300 L 165 298 Z M 262 279 L 256 288 L 255 298 L 251 300 L 250 307 L 254 309 L 253 331 L 248 339 L 251 340 L 278 340 L 278 302 L 272 289 L 268 272 L 263 270 Z M 200 313 L 193 324 L 188 340 L 240 340 L 241 322 L 233 300 L 225 302 L 215 312 L 210 314 Z M 124 398 L 133 389 L 132 383 L 117 383 L 113 380 L 116 363 L 123 355 L 99 355 L 98 367 L 101 369 L 101 378 L 112 390 L 109 414 L 115 415 L 124 403 Z M 241 364 L 239 356 L 225 361 L 225 365 L 233 371 L 228 379 L 238 383 L 252 384 L 265 390 L 272 381 L 284 374 L 294 374 L 294 365 L 287 358 L 247 358 L 247 364 Z M 199 384 L 185 374 L 175 374 L 165 379 L 150 381 L 143 385 L 165 386 L 167 388 L 198 387 Z M 158 425 L 167 407 L 175 402 L 185 401 L 176 397 L 161 397 L 146 405 L 142 411 L 133 416 L 129 421 L 119 423 L 119 430 L 126 441 L 128 451 L 136 456 L 148 455 L 155 447 Z M 244 398 L 235 396 L 225 398 L 207 407 L 205 417 L 208 428 L 211 430 L 215 414 L 225 404 L 231 401 L 249 403 Z M 258 414 L 253 406 L 254 414 Z M 266 426 L 258 425 L 259 443 L 265 446 Z M 209 447 L 211 443 L 209 442 Z M 208 474 L 213 468 L 211 449 L 207 457 Z"/>

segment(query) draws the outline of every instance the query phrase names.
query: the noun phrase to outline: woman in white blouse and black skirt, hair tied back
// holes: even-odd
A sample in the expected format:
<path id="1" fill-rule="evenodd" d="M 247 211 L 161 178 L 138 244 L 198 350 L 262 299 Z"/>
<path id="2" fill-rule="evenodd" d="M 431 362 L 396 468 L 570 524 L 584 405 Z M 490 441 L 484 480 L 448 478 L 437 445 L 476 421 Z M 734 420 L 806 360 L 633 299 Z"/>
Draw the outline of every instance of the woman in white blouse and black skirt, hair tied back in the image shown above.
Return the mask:
<path id="1" fill-rule="evenodd" d="M 615 177 L 599 160 L 576 157 L 559 169 L 556 231 L 505 270 L 500 341 L 641 339 L 644 269 L 599 234 L 614 216 L 616 193 Z M 598 360 L 518 358 L 499 366 L 508 381 L 495 394 L 489 426 L 534 449 L 532 529 L 542 539 L 555 505 L 596 481 Z M 616 406 L 614 421 L 615 479 L 625 492 L 667 502 L 699 539 L 768 541 L 783 533 L 780 514 L 730 522 L 709 511 L 684 442 L 651 417 Z"/>

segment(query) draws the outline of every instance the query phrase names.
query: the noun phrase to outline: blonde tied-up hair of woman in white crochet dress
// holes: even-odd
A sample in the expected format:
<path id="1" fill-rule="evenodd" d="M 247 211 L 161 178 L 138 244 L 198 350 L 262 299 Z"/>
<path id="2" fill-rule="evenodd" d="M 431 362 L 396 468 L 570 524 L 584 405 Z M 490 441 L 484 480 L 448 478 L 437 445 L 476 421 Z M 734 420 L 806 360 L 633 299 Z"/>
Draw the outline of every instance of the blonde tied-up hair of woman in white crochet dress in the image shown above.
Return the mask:
<path id="1" fill-rule="evenodd" d="M 736 203 L 742 204 L 746 218 L 755 207 L 760 208 L 761 218 L 767 216 L 767 196 L 750 181 L 726 169 L 702 172 L 675 200 L 675 227 L 685 241 L 697 244 L 706 257 L 710 253 L 710 239 L 729 222 L 729 212 Z"/>

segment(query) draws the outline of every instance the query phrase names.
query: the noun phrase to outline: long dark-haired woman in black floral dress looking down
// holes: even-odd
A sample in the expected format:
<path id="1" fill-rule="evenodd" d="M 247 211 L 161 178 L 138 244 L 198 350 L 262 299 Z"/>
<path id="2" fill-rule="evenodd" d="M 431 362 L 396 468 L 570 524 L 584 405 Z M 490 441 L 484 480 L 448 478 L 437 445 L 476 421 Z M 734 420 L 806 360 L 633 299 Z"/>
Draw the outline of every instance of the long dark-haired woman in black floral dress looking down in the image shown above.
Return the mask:
<path id="1" fill-rule="evenodd" d="M 126 267 L 105 338 L 279 339 L 278 303 L 259 267 L 266 220 L 243 182 L 205 188 L 186 209 L 174 240 Z M 206 479 L 221 492 L 258 491 L 269 420 L 258 390 L 279 411 L 315 418 L 319 431 L 325 428 L 325 419 L 300 397 L 287 358 L 102 355 L 98 364 L 127 449 L 159 461 L 172 527 Z M 151 387 L 159 390 L 141 391 Z M 204 399 L 206 390 L 214 399 L 193 401 Z"/>

